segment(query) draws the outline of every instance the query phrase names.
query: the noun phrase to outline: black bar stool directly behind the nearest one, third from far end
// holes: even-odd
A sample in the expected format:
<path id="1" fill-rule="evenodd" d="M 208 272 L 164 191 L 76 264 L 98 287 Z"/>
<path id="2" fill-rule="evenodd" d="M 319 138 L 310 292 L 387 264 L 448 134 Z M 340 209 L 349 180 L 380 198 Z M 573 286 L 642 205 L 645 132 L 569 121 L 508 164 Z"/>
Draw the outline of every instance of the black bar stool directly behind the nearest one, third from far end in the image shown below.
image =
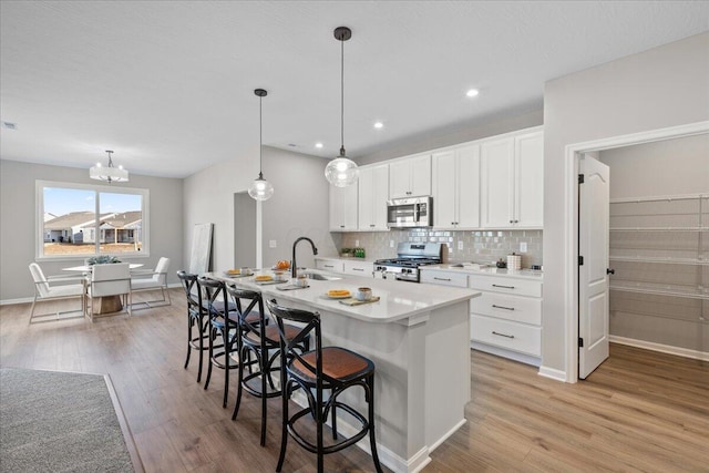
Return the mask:
<path id="1" fill-rule="evenodd" d="M 236 394 L 236 404 L 232 420 L 236 419 L 242 403 L 242 389 L 249 394 L 260 398 L 261 400 L 261 446 L 266 444 L 266 419 L 267 419 L 267 400 L 277 398 L 280 393 L 280 384 L 276 387 L 273 373 L 280 373 L 280 341 L 278 337 L 278 327 L 268 325 L 266 312 L 264 310 L 264 299 L 261 294 L 253 290 L 238 289 L 236 287 L 227 287 L 227 292 L 233 297 L 239 315 L 239 359 L 250 360 L 253 353 L 256 363 L 249 363 L 249 372 L 239 370 L 238 392 Z M 254 320 L 257 315 L 258 319 Z M 299 329 L 292 326 L 284 325 L 286 337 L 291 340 L 299 332 Z M 302 343 L 296 348 L 301 352 L 309 349 L 310 337 L 306 337 Z M 255 371 L 254 364 L 258 366 Z M 256 384 L 256 382 L 258 384 Z"/>

